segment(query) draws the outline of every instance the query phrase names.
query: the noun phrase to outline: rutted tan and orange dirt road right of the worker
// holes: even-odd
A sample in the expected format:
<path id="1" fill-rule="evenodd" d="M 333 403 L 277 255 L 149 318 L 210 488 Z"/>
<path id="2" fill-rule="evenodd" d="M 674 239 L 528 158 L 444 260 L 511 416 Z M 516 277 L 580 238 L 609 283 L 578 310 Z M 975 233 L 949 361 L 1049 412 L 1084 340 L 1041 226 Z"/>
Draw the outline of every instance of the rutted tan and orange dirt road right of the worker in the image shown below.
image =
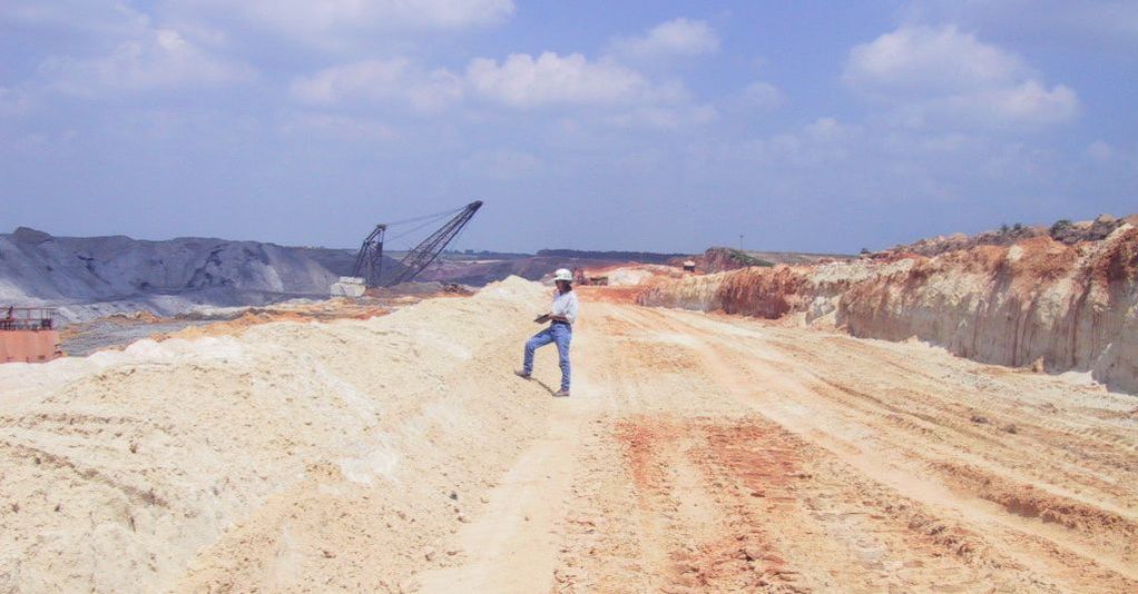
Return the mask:
<path id="1" fill-rule="evenodd" d="M 1136 592 L 1138 399 L 586 304 L 574 395 L 424 592 Z M 530 385 L 555 386 L 551 352 Z"/>

